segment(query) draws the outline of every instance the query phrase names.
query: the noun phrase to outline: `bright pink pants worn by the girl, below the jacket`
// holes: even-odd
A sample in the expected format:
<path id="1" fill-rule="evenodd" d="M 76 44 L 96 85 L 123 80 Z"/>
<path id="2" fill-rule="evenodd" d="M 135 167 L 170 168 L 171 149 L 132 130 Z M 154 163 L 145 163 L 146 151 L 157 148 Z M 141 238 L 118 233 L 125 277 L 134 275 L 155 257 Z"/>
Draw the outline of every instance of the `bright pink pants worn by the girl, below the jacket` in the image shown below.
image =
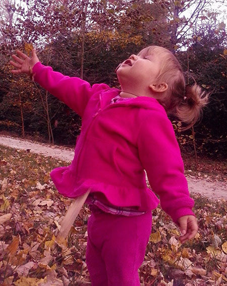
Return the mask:
<path id="1" fill-rule="evenodd" d="M 127 217 L 92 211 L 86 251 L 92 286 L 139 286 L 151 227 L 151 212 Z"/>

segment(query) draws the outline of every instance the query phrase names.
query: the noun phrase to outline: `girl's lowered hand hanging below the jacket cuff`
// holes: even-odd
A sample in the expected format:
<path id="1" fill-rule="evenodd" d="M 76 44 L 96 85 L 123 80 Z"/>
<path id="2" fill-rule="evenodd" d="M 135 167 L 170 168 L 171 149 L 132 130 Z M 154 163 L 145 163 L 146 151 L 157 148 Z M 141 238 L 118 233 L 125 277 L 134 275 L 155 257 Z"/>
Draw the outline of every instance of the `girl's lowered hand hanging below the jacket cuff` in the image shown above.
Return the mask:
<path id="1" fill-rule="evenodd" d="M 198 225 L 195 216 L 185 215 L 178 219 L 182 236 L 179 237 L 181 243 L 193 239 L 198 231 Z"/>

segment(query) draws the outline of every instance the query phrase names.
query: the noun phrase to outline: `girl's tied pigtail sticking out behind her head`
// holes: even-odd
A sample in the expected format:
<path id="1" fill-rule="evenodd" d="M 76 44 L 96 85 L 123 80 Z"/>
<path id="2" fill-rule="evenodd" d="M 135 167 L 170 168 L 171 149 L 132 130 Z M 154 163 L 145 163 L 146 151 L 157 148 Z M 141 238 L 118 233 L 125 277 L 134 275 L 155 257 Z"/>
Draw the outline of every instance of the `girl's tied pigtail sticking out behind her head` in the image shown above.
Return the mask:
<path id="1" fill-rule="evenodd" d="M 180 131 L 189 129 L 202 117 L 202 108 L 208 104 L 208 98 L 209 93 L 203 91 L 196 83 L 186 86 L 185 97 L 182 103 L 176 106 L 176 115 L 181 121 L 189 124 Z"/>

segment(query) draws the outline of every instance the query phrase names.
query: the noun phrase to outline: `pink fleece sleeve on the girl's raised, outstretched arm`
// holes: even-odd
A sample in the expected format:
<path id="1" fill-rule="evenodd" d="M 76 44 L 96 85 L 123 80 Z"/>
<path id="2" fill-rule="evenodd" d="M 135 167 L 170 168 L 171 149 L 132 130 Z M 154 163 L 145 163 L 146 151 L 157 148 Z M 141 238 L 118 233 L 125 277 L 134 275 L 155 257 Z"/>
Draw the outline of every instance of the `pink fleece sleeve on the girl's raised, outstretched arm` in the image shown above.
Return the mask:
<path id="1" fill-rule="evenodd" d="M 55 72 L 49 66 L 44 66 L 40 62 L 36 63 L 32 69 L 34 80 L 53 96 L 72 108 L 81 117 L 85 107 L 95 92 L 108 88 L 104 83 L 90 84 L 78 77 L 69 77 Z"/>

